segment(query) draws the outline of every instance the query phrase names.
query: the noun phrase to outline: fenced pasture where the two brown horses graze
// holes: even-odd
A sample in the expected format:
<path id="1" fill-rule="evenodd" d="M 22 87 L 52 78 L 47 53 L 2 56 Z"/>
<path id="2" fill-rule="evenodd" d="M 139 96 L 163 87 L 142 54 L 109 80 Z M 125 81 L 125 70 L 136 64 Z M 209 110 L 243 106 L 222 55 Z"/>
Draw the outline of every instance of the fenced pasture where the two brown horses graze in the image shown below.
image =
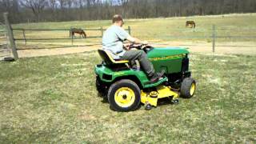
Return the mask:
<path id="1" fill-rule="evenodd" d="M 187 20 L 194 20 L 196 28 L 185 28 Z M 226 14 L 217 16 L 195 16 L 183 18 L 127 19 L 125 28 L 131 26 L 131 34 L 152 42 L 211 42 L 212 26 L 216 25 L 217 36 L 256 37 L 256 14 Z M 111 25 L 110 20 L 82 22 L 40 22 L 14 25 L 14 28 L 30 29 L 95 29 Z M 86 31 L 88 36 L 100 36 L 101 31 Z M 14 30 L 15 38 L 23 38 L 22 31 Z M 26 38 L 69 38 L 69 31 L 26 31 Z M 255 38 L 218 38 L 218 42 L 255 42 Z M 38 45 L 40 43 L 40 45 Z M 101 43 L 101 38 L 74 40 L 74 45 Z M 49 48 L 71 46 L 71 40 L 18 41 L 18 48 Z"/>

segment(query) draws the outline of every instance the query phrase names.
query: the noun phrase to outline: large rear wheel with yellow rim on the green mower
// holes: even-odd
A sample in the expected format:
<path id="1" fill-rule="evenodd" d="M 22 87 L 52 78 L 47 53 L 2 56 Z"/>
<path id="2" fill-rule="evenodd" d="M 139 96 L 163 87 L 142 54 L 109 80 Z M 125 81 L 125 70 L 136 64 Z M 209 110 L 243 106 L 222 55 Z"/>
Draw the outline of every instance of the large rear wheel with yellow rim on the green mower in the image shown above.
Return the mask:
<path id="1" fill-rule="evenodd" d="M 128 94 L 128 96 L 126 96 L 126 94 Z M 110 102 L 110 106 L 114 110 L 132 111 L 136 110 L 141 102 L 141 90 L 135 82 L 129 79 L 123 79 L 114 82 L 114 84 L 110 86 L 107 98 Z M 121 98 L 122 101 L 127 101 L 127 106 L 125 106 L 125 102 L 118 102 L 118 98 Z"/>

